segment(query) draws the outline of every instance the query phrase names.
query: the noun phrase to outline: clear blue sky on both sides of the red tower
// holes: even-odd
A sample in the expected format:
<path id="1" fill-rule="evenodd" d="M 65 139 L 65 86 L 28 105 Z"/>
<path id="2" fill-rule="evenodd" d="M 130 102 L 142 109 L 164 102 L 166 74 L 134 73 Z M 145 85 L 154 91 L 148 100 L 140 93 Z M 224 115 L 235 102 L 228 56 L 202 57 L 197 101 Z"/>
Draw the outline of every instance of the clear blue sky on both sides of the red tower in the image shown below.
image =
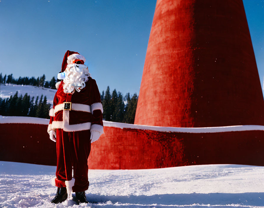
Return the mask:
<path id="1" fill-rule="evenodd" d="M 260 82 L 264 1 L 244 0 Z M 139 94 L 156 0 L 1 0 L 0 72 L 15 78 L 61 69 L 67 50 L 86 58 L 99 91 Z M 4 21 L 3 21 L 4 20 Z"/>

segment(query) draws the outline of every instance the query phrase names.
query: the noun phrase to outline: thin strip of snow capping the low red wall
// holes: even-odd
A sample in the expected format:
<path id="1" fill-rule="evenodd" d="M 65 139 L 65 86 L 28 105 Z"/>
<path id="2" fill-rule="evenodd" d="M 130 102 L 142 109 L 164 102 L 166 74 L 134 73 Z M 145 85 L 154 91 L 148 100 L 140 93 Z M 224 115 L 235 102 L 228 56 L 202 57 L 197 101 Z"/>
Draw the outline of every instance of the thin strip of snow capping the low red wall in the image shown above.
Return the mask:
<path id="1" fill-rule="evenodd" d="M 33 118 L 23 116 L 0 116 L 0 124 L 49 124 L 49 119 Z M 230 131 L 264 131 L 264 126 L 260 125 L 240 125 L 240 126 L 217 126 L 217 127 L 200 127 L 200 128 L 183 128 L 183 127 L 164 127 L 164 126 L 147 126 L 136 124 L 125 124 L 112 121 L 103 121 L 103 126 L 130 129 L 146 129 L 161 132 L 183 132 L 183 133 L 216 133 Z"/>

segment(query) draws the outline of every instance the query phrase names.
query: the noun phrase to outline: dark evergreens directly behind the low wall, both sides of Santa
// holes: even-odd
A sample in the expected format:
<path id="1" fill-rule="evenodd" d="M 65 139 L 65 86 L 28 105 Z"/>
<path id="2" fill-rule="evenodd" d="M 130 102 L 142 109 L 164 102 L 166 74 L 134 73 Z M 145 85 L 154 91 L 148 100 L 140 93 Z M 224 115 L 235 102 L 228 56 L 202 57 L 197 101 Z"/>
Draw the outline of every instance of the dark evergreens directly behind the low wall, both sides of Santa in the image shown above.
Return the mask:
<path id="1" fill-rule="evenodd" d="M 105 121 L 114 121 L 133 124 L 135 120 L 138 96 L 135 93 L 132 97 L 128 92 L 125 96 L 116 89 L 110 93 L 109 86 L 105 93 L 100 93 L 103 105 L 103 119 Z M 47 103 L 47 97 L 41 95 L 30 98 L 27 93 L 18 96 L 18 92 L 10 98 L 0 98 L 0 115 L 2 116 L 30 116 L 38 118 L 49 118 L 49 109 L 51 104 Z"/>

